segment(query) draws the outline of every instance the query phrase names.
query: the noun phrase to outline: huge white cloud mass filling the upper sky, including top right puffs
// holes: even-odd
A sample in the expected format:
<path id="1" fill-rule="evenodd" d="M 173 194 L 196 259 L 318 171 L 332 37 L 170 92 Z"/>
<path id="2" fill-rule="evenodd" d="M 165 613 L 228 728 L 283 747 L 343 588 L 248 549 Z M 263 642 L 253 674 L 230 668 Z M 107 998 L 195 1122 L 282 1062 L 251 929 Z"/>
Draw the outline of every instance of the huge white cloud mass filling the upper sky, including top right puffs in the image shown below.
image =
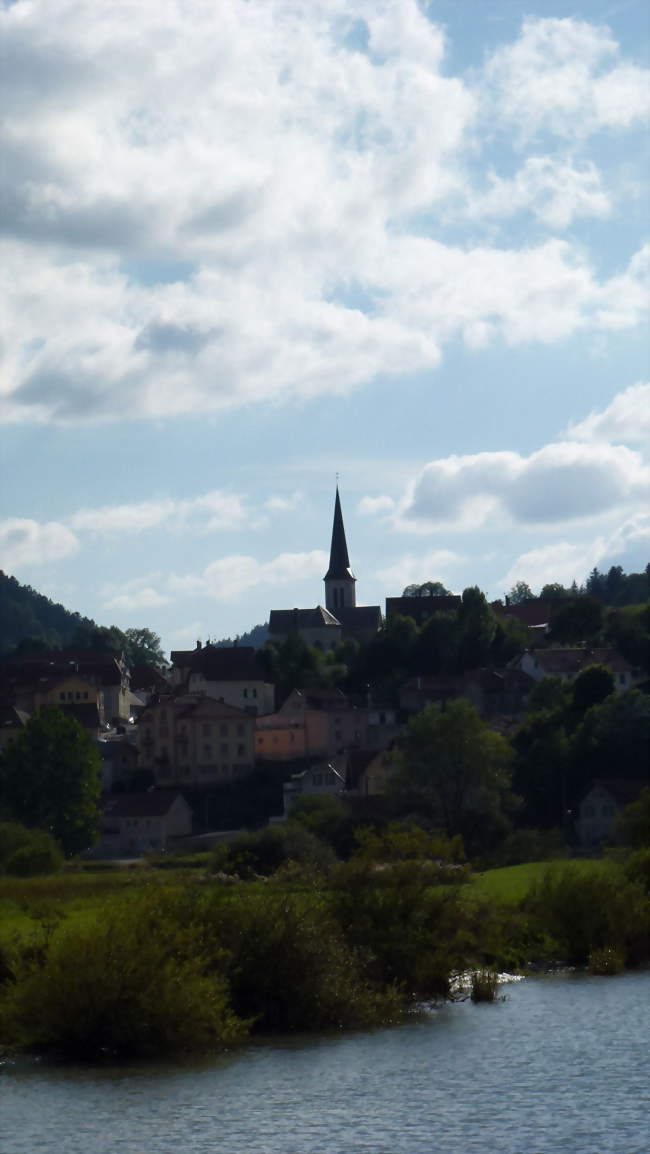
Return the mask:
<path id="1" fill-rule="evenodd" d="M 468 152 L 487 147 L 488 93 L 509 130 L 522 105 L 560 135 L 627 128 L 641 69 L 606 30 L 531 20 L 470 83 L 434 16 L 416 0 L 5 6 L 2 418 L 344 394 L 433 369 L 453 339 L 638 323 L 640 255 L 603 278 L 568 241 L 451 246 L 421 222 L 454 204 L 551 228 L 604 217 L 589 159 L 536 155 L 477 196 Z"/>

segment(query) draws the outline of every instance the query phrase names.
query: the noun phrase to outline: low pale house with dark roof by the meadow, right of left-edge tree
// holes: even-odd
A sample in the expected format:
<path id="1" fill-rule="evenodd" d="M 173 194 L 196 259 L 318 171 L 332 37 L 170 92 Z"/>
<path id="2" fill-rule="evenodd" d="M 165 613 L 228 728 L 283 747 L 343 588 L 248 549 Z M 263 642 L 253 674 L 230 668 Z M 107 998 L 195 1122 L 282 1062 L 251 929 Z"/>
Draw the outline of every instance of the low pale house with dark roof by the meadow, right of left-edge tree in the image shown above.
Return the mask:
<path id="1" fill-rule="evenodd" d="M 179 793 L 150 789 L 104 800 L 95 857 L 139 857 L 192 833 L 192 810 Z"/>

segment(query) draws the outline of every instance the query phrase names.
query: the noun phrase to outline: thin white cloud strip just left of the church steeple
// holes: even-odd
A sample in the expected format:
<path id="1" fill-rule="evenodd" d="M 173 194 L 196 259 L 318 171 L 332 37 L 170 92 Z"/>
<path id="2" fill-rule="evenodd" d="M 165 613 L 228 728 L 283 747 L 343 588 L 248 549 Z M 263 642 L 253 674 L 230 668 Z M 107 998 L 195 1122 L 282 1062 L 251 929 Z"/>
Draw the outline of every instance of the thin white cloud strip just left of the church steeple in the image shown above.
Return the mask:
<path id="1" fill-rule="evenodd" d="M 209 597 L 217 601 L 237 601 L 259 585 L 293 585 L 307 577 L 322 577 L 328 556 L 320 549 L 312 553 L 281 553 L 271 561 L 257 561 L 246 554 L 219 557 L 196 576 L 172 576 L 173 593 Z"/>

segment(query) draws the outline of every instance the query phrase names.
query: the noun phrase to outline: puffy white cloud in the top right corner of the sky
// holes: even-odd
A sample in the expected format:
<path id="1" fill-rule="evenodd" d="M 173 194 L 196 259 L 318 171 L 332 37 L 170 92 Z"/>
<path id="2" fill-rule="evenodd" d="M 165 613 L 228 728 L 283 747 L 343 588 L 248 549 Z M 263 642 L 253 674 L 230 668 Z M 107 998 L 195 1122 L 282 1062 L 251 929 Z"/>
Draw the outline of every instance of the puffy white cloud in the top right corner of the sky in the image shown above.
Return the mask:
<path id="1" fill-rule="evenodd" d="M 581 20 L 524 20 L 520 38 L 486 66 L 493 113 L 522 140 L 541 129 L 584 137 L 626 129 L 650 108 L 649 73 L 621 60 L 608 28 Z"/>

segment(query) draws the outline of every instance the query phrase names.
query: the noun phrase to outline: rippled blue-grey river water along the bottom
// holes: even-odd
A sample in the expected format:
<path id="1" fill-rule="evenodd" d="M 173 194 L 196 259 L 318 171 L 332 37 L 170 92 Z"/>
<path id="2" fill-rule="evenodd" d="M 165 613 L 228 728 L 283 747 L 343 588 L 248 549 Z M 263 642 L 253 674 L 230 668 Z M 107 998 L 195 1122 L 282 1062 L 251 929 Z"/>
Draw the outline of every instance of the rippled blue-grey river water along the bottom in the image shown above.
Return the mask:
<path id="1" fill-rule="evenodd" d="M 645 1154 L 650 974 L 216 1059 L 8 1063 L 2 1154 Z"/>

